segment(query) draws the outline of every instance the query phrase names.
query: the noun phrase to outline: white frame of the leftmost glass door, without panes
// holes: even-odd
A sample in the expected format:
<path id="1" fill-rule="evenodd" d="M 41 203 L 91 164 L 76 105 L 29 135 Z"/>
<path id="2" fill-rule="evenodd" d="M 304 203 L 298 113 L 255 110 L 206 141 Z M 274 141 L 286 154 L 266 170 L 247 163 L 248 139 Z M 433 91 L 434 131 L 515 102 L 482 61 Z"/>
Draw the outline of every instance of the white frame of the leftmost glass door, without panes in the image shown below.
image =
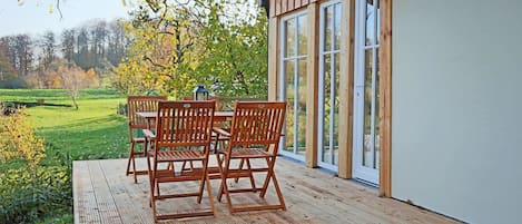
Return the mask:
<path id="1" fill-rule="evenodd" d="M 285 16 L 283 17 L 280 20 L 279 20 L 279 45 L 280 45 L 280 50 L 279 50 L 279 100 L 284 100 L 286 101 L 286 74 L 285 74 L 285 61 L 286 60 L 294 60 L 296 61 L 295 62 L 295 70 L 294 70 L 294 86 L 298 87 L 298 78 L 296 77 L 297 75 L 297 71 L 298 71 L 298 61 L 299 59 L 303 59 L 303 58 L 307 58 L 308 57 L 308 52 L 306 52 L 306 56 L 292 56 L 292 57 L 285 57 L 285 49 L 286 49 L 286 40 L 285 40 L 285 37 L 286 37 L 286 30 L 285 30 L 285 22 L 290 20 L 290 19 L 296 19 L 298 17 L 302 17 L 302 16 L 307 16 L 307 11 L 306 10 L 303 10 L 303 11 L 297 11 L 297 12 L 294 12 L 294 13 L 290 13 L 288 16 Z M 297 20 L 296 20 L 297 21 Z M 296 22 L 297 25 L 297 22 Z M 298 31 L 299 27 L 296 26 L 296 30 Z M 296 32 L 297 35 L 298 32 Z M 295 41 L 295 50 L 298 52 L 299 51 L 299 48 L 298 48 L 298 38 L 296 38 L 296 41 Z M 308 41 L 308 45 L 309 45 L 309 41 Z M 294 89 L 294 96 L 298 96 L 298 88 L 295 88 Z M 297 97 L 296 97 L 297 99 Z M 284 150 L 284 148 L 286 147 L 285 146 L 285 143 L 286 143 L 286 138 L 283 137 L 282 142 L 279 143 L 279 154 L 280 155 L 284 155 L 286 157 L 290 157 L 290 158 L 294 158 L 296 160 L 301 160 L 301 162 L 304 162 L 305 160 L 305 156 L 304 155 L 298 155 L 297 154 L 297 147 L 296 147 L 296 143 L 297 143 L 297 135 L 298 133 L 296 132 L 297 130 L 297 125 L 298 123 L 296 123 L 295 120 L 298 120 L 298 111 L 295 109 L 297 108 L 297 104 L 298 101 L 297 100 L 294 100 L 294 148 L 293 148 L 293 153 L 288 153 L 286 150 Z M 286 132 L 286 121 L 285 121 L 285 132 Z"/>

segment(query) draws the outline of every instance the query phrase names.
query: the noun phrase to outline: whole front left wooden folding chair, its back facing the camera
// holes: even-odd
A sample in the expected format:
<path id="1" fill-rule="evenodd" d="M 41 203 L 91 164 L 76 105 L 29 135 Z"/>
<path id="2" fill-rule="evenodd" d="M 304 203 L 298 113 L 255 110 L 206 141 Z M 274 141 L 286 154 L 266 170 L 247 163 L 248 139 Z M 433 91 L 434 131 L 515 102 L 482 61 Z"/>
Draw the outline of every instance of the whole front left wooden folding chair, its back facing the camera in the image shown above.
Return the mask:
<path id="1" fill-rule="evenodd" d="M 146 132 L 154 139 L 154 150 L 148 153 L 147 166 L 150 181 L 150 205 L 154 221 L 215 215 L 214 198 L 208 177 L 214 119 L 214 101 L 159 101 L 156 117 L 156 134 Z M 200 168 L 189 172 L 175 171 L 176 163 L 201 162 Z M 167 164 L 168 166 L 161 166 Z M 168 167 L 160 169 L 161 167 Z M 199 181 L 196 193 L 161 194 L 160 184 Z M 210 208 L 203 212 L 162 214 L 157 212 L 158 199 L 197 196 L 201 202 L 204 187 L 207 187 Z"/>

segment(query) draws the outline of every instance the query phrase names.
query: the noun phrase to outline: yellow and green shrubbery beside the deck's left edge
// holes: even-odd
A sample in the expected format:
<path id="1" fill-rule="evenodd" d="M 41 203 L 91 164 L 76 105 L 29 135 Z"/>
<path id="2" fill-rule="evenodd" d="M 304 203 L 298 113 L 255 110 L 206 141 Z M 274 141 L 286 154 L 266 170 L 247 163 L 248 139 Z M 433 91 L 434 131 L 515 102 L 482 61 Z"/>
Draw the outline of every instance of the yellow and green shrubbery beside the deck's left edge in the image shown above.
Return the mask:
<path id="1" fill-rule="evenodd" d="M 45 153 L 23 108 L 0 115 L 0 223 L 33 223 L 71 212 L 70 156 L 51 155 L 61 164 L 45 166 Z"/>

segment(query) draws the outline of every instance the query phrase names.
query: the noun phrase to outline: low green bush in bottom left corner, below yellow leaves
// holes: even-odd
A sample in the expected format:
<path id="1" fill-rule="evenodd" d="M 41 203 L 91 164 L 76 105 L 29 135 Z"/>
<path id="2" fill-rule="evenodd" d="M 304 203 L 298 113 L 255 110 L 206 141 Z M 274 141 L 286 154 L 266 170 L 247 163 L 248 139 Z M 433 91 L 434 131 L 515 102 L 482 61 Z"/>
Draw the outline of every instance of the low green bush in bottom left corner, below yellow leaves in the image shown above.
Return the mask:
<path id="1" fill-rule="evenodd" d="M 0 175 L 0 223 L 33 223 L 72 213 L 71 171 L 68 167 L 10 169 Z"/>

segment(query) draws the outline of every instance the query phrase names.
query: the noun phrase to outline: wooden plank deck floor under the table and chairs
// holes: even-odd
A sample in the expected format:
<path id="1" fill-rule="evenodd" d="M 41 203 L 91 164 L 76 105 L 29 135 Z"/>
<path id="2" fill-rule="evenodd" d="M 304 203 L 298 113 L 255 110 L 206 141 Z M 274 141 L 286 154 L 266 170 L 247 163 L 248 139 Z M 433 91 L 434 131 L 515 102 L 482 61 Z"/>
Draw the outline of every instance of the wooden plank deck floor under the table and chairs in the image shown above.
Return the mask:
<path id="1" fill-rule="evenodd" d="M 144 162 L 140 160 L 140 167 L 145 167 Z M 73 162 L 75 223 L 154 223 L 148 203 L 148 177 L 139 176 L 138 184 L 134 184 L 132 177 L 125 175 L 125 167 L 126 159 Z M 285 158 L 278 158 L 276 174 L 287 211 L 230 215 L 224 199 L 215 201 L 216 217 L 160 223 L 457 223 L 395 199 L 377 197 L 374 188 L 306 168 L 303 164 Z M 238 185 L 248 183 L 242 179 Z M 219 184 L 219 179 L 211 181 L 214 193 Z M 272 185 L 269 188 L 273 188 Z M 275 191 L 268 191 L 266 201 L 276 202 L 275 198 Z M 236 199 L 238 203 L 252 203 L 258 201 L 258 197 L 246 194 Z M 169 212 L 186 210 L 197 205 L 195 201 L 187 198 L 180 203 L 170 199 L 161 202 L 159 208 Z M 201 206 L 208 206 L 205 202 L 208 199 L 204 198 Z"/>

